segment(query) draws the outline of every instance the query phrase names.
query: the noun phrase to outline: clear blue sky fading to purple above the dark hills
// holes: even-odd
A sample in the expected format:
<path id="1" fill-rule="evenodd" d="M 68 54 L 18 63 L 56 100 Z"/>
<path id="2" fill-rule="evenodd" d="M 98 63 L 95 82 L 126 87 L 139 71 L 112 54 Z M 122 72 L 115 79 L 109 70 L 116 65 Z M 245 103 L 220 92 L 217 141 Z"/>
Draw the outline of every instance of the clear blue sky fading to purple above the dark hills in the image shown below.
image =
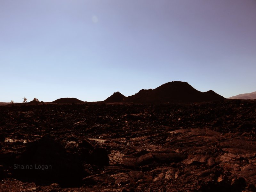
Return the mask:
<path id="1" fill-rule="evenodd" d="M 185 81 L 256 91 L 255 0 L 0 0 L 0 101 L 105 100 Z"/>

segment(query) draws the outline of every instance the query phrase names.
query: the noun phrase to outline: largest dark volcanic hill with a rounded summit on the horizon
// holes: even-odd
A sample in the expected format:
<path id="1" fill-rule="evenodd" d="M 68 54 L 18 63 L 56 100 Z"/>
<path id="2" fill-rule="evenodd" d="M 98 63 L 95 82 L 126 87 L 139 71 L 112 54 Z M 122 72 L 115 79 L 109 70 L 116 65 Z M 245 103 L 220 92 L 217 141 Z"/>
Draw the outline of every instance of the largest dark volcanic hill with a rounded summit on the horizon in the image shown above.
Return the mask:
<path id="1" fill-rule="evenodd" d="M 134 103 L 186 103 L 223 100 L 224 97 L 214 91 L 200 92 L 187 82 L 172 81 L 156 89 L 140 90 L 138 93 L 126 97 L 124 102 Z"/>

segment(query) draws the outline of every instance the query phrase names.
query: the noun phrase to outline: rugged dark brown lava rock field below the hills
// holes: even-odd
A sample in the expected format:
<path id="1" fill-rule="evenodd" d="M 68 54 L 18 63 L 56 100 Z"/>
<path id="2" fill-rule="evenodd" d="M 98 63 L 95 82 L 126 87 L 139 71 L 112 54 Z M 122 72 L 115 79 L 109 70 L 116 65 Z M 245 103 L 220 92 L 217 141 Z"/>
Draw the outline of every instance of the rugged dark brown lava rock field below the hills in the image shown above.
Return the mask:
<path id="1" fill-rule="evenodd" d="M 0 191 L 256 191 L 256 101 L 0 107 Z"/>

